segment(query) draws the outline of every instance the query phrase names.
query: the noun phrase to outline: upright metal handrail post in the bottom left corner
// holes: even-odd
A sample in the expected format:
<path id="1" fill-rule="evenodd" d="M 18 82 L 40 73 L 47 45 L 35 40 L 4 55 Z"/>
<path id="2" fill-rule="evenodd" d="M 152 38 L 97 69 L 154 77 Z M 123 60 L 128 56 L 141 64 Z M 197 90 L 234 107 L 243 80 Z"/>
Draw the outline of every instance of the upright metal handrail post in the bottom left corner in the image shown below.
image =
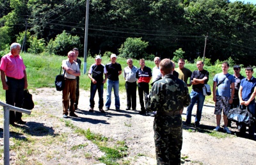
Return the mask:
<path id="1" fill-rule="evenodd" d="M 10 131 L 9 121 L 10 110 L 8 106 L 4 106 L 4 165 L 10 164 Z"/>

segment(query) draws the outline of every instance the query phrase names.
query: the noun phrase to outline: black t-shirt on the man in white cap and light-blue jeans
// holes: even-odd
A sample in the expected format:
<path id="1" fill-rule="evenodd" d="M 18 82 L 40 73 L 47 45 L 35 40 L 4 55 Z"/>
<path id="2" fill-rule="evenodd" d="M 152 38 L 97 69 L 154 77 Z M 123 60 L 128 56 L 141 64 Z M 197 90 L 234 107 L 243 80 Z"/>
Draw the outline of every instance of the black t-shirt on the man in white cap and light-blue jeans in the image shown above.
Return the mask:
<path id="1" fill-rule="evenodd" d="M 118 81 L 119 71 L 122 71 L 122 67 L 119 63 L 108 63 L 106 65 L 106 70 L 108 72 L 108 79 L 112 81 Z"/>

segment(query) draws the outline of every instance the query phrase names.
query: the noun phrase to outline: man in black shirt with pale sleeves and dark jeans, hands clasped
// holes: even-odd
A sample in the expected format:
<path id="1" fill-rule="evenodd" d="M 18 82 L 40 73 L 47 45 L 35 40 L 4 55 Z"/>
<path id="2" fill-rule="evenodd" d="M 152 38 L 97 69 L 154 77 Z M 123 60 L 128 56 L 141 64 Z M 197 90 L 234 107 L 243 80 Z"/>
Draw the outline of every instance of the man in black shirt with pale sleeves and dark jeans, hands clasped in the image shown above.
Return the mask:
<path id="1" fill-rule="evenodd" d="M 106 67 L 101 64 L 101 57 L 98 55 L 95 57 L 95 62 L 93 65 L 91 65 L 88 77 L 92 80 L 91 81 L 91 96 L 90 96 L 90 112 L 93 112 L 94 107 L 94 97 L 95 93 L 98 90 L 99 93 L 99 111 L 101 113 L 105 113 L 105 111 L 102 109 L 103 107 L 103 87 L 104 83 L 106 83 L 107 79 L 107 71 Z M 103 79 L 103 74 L 105 74 L 105 79 Z"/>

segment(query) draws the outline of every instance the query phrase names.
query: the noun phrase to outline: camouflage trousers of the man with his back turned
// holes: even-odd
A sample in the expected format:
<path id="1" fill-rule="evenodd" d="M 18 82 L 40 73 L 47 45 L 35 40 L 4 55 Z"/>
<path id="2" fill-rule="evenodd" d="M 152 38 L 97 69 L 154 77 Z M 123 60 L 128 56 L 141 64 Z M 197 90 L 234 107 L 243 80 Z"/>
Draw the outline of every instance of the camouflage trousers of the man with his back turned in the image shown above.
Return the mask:
<path id="1" fill-rule="evenodd" d="M 157 164 L 180 164 L 181 116 L 156 116 L 154 132 Z"/>

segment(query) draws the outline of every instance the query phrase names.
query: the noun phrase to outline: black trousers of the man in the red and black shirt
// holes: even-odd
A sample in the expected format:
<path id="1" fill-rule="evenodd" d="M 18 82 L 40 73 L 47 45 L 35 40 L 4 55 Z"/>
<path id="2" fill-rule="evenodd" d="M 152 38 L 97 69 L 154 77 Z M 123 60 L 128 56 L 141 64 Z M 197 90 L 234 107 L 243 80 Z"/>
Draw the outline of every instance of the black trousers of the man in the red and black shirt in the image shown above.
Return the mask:
<path id="1" fill-rule="evenodd" d="M 149 94 L 148 83 L 138 83 L 138 92 L 139 92 L 139 97 L 140 97 L 141 111 L 145 111 L 144 100 L 145 100 L 145 102 L 148 101 L 148 97 L 147 97 Z M 143 96 L 144 96 L 144 100 L 143 100 Z"/>

